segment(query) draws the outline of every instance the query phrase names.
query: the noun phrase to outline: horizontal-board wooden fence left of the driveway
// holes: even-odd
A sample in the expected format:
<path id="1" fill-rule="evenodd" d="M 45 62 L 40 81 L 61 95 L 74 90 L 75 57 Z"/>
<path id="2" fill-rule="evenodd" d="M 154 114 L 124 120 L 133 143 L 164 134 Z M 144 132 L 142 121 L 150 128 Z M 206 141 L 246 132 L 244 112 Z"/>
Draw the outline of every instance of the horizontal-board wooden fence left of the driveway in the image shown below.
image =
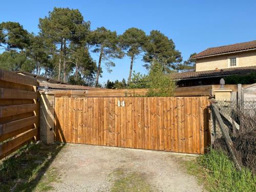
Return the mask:
<path id="1" fill-rule="evenodd" d="M 0 70 L 0 159 L 38 137 L 36 79 Z"/>

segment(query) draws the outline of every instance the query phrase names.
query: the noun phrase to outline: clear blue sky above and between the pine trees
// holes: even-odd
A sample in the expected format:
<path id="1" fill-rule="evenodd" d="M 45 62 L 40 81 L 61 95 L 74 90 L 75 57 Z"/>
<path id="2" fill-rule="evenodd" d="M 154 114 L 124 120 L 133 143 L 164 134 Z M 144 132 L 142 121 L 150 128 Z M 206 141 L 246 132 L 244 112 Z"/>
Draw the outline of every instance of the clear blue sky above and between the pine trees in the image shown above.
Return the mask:
<path id="1" fill-rule="evenodd" d="M 79 9 L 91 29 L 104 26 L 122 34 L 137 27 L 149 34 L 160 30 L 175 42 L 183 60 L 191 53 L 256 39 L 256 1 L 2 1 L 0 23 L 19 22 L 29 32 L 38 32 L 38 19 L 53 7 Z M 97 61 L 97 55 L 93 55 Z M 127 79 L 130 58 L 115 60 L 112 73 L 103 71 L 100 82 Z M 143 62 L 135 61 L 134 70 L 146 73 Z"/>

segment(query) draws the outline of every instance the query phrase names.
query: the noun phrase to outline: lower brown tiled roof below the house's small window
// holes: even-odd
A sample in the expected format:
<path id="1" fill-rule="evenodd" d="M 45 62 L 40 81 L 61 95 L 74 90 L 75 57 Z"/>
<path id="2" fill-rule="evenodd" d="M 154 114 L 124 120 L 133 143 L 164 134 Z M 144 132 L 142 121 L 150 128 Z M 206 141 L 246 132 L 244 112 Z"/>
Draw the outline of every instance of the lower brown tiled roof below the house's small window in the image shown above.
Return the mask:
<path id="1" fill-rule="evenodd" d="M 188 71 L 183 73 L 173 73 L 170 74 L 173 79 L 185 80 L 185 79 L 199 79 L 205 77 L 218 77 L 218 76 L 228 76 L 228 75 L 246 75 L 249 73 L 256 73 L 256 66 L 249 67 L 236 67 L 236 68 L 226 68 L 208 71 Z"/>

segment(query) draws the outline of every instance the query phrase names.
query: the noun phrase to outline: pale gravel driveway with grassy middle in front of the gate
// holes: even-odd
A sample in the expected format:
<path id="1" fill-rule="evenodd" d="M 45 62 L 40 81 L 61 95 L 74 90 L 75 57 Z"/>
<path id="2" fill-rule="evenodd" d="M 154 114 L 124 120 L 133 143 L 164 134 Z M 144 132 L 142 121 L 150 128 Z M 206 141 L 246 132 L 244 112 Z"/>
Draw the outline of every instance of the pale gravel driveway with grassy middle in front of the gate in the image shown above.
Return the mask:
<path id="1" fill-rule="evenodd" d="M 53 161 L 53 191 L 203 191 L 181 162 L 193 156 L 66 144 Z M 133 188 L 134 187 L 134 188 Z"/>

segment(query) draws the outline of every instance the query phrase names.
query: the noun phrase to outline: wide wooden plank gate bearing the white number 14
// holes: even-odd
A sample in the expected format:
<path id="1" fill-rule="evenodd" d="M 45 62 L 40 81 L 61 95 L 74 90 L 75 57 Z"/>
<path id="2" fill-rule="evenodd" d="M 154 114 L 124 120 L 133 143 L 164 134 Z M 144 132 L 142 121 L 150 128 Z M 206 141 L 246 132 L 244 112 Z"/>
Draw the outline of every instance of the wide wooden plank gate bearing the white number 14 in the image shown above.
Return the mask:
<path id="1" fill-rule="evenodd" d="M 55 97 L 55 140 L 203 154 L 207 97 Z"/>

